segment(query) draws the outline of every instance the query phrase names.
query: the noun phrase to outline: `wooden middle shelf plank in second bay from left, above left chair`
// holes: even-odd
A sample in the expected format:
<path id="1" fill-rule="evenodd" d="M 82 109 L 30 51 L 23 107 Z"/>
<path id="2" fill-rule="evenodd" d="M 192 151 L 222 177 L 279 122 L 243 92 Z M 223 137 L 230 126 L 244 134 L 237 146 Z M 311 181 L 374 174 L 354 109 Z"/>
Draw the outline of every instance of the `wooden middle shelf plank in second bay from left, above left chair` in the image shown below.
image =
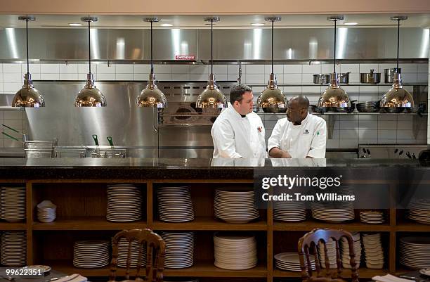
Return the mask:
<path id="1" fill-rule="evenodd" d="M 33 230 L 122 230 L 143 229 L 147 224 L 138 222 L 108 222 L 106 217 L 69 217 L 55 222 L 34 222 Z"/>

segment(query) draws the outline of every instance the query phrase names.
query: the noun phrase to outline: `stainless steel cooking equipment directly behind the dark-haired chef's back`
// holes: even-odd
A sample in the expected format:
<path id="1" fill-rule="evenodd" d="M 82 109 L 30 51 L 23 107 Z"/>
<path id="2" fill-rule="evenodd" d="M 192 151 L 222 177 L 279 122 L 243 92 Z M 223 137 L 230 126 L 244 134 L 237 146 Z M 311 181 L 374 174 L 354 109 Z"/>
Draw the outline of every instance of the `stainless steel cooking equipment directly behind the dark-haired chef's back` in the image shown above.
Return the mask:
<path id="1" fill-rule="evenodd" d="M 219 87 L 228 98 L 235 84 L 221 82 Z M 205 86 L 204 82 L 162 84 L 169 107 L 159 113 L 159 158 L 211 158 L 210 132 L 219 110 L 196 107 Z"/>

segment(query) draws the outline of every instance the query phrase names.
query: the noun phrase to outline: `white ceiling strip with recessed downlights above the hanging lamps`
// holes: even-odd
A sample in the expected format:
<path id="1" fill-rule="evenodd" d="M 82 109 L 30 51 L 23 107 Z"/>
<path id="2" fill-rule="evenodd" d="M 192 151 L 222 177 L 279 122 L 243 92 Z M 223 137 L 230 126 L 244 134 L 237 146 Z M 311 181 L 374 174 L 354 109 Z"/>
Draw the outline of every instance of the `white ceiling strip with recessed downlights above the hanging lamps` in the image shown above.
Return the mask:
<path id="1" fill-rule="evenodd" d="M 34 28 L 84 28 L 69 27 L 69 23 L 82 23 L 80 18 L 87 15 L 35 15 L 37 20 L 29 24 Z M 96 15 L 97 16 L 97 15 Z M 162 15 L 161 22 L 155 23 L 155 28 L 208 28 L 204 18 L 208 15 Z M 282 15 L 281 15 L 282 16 Z M 333 23 L 327 20 L 329 15 L 283 15 L 275 27 L 281 28 L 315 28 L 332 27 Z M 351 14 L 345 15 L 345 20 L 338 23 L 358 23 L 355 27 L 395 27 L 396 22 L 390 20 L 389 14 Z M 265 15 L 220 15 L 221 21 L 216 27 L 221 28 L 254 28 L 252 23 L 271 23 L 264 21 Z M 402 27 L 430 27 L 430 14 L 408 14 L 409 19 L 400 23 Z M 100 15 L 98 22 L 92 26 L 99 28 L 145 28 L 149 23 L 143 22 L 145 15 Z M 162 23 L 170 23 L 173 27 L 160 27 Z M 25 27 L 25 23 L 18 20 L 18 15 L 0 15 L 0 27 Z M 349 26 L 351 27 L 351 26 Z"/>

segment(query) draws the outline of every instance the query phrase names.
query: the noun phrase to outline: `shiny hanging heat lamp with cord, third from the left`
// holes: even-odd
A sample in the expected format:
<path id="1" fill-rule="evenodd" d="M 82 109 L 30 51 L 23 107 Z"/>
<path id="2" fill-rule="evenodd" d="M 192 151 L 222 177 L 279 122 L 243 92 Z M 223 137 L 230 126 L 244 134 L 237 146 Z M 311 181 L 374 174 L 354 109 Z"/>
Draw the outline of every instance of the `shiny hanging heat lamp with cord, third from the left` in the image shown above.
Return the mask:
<path id="1" fill-rule="evenodd" d="M 148 79 L 148 85 L 141 91 L 141 94 L 136 98 L 136 107 L 153 107 L 165 108 L 167 105 L 166 96 L 155 85 L 154 63 L 152 60 L 152 23 L 159 22 L 159 18 L 145 18 L 147 23 L 151 23 L 151 73 Z"/>

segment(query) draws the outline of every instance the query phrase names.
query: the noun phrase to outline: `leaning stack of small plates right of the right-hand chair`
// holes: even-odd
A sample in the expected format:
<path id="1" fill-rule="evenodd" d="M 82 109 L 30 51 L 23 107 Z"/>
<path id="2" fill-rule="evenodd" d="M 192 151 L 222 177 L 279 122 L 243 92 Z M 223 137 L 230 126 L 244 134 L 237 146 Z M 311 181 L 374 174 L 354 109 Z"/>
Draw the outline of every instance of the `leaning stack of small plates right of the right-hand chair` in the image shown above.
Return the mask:
<path id="1" fill-rule="evenodd" d="M 366 267 L 369 269 L 382 269 L 384 267 L 384 249 L 381 243 L 381 233 L 362 233 L 362 235 Z"/>

